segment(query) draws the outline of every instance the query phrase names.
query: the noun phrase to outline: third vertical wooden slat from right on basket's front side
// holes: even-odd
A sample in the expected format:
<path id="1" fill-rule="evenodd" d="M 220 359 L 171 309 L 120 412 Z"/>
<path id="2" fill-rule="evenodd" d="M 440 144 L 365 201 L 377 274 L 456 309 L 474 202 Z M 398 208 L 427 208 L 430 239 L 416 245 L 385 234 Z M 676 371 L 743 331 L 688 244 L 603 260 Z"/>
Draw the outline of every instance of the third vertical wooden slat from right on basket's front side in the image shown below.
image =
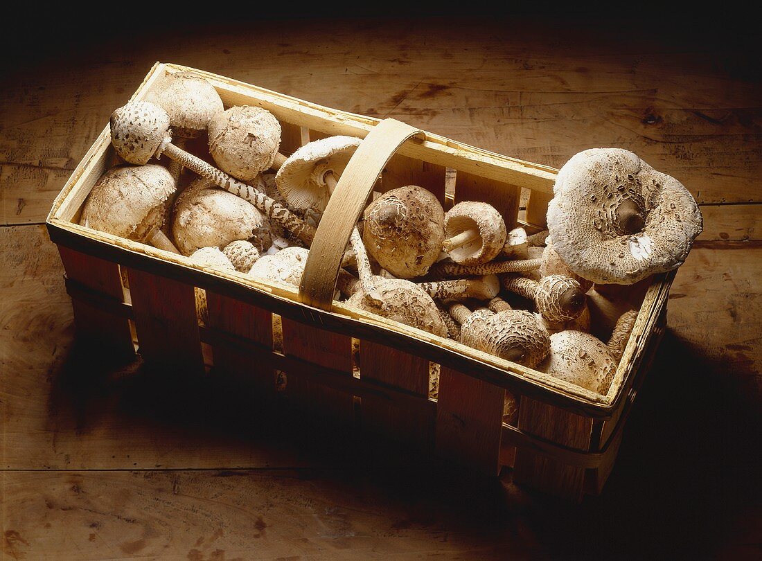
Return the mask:
<path id="1" fill-rule="evenodd" d="M 360 377 L 427 396 L 429 361 L 371 341 L 360 341 Z M 363 428 L 423 451 L 434 445 L 431 413 L 431 409 L 392 406 L 381 399 L 362 401 Z"/>

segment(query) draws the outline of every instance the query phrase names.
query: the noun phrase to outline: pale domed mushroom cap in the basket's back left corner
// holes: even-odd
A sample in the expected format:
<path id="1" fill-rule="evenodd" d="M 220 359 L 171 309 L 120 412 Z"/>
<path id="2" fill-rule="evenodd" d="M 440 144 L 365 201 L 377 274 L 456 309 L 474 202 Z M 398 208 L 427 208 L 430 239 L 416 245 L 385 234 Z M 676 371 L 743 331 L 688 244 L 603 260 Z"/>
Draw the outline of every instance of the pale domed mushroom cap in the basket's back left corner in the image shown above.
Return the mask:
<path id="1" fill-rule="evenodd" d="M 146 101 L 162 107 L 169 115 L 172 132 L 183 138 L 199 136 L 213 115 L 224 110 L 214 86 L 188 72 L 165 75 L 146 93 Z"/>

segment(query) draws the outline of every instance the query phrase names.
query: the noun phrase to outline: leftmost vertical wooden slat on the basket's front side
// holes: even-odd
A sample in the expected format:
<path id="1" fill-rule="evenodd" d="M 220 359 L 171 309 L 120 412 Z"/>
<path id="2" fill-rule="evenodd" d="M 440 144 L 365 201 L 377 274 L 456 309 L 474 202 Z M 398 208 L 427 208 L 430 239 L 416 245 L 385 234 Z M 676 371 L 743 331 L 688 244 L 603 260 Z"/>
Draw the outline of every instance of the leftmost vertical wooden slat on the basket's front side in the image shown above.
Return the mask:
<path id="1" fill-rule="evenodd" d="M 59 245 L 59 253 L 66 275 L 70 279 L 115 302 L 124 301 L 122 280 L 116 263 L 76 252 L 63 245 Z M 78 335 L 87 341 L 87 345 L 104 349 L 108 354 L 113 353 L 117 357 L 132 357 L 135 354 L 130 323 L 126 319 L 78 300 L 72 300 L 72 307 Z"/>

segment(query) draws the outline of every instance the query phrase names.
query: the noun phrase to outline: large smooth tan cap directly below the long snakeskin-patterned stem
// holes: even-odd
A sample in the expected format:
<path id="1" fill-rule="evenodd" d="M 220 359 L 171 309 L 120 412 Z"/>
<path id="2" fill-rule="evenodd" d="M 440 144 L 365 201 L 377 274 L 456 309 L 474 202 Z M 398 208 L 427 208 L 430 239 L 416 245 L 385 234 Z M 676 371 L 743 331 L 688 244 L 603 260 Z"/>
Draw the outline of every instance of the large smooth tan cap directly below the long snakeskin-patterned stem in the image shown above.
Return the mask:
<path id="1" fill-rule="evenodd" d="M 224 248 L 236 239 L 261 237 L 266 226 L 253 204 L 197 178 L 175 201 L 172 237 L 184 255 L 191 255 L 198 248 Z"/>

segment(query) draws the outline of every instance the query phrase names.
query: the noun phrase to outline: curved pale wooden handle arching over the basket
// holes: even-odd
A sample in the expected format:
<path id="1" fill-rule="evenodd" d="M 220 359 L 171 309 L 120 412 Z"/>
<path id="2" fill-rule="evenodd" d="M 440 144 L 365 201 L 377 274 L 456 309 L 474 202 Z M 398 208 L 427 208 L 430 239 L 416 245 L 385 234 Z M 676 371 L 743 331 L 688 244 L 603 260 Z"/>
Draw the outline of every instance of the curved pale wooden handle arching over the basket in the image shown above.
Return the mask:
<path id="1" fill-rule="evenodd" d="M 384 119 L 360 143 L 328 200 L 312 240 L 299 285 L 302 303 L 331 310 L 341 256 L 373 185 L 399 147 L 412 136 L 423 139 L 423 135 L 423 131 L 399 120 Z"/>

